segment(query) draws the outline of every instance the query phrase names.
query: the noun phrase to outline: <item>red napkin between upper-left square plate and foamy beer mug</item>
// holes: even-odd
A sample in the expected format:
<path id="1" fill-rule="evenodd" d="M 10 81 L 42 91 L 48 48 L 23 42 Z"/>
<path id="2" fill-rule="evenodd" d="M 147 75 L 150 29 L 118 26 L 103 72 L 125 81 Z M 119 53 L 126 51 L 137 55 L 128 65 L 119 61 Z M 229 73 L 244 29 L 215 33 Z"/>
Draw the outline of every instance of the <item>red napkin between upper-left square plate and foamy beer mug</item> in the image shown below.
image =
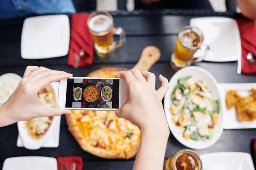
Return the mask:
<path id="1" fill-rule="evenodd" d="M 85 55 L 80 57 L 79 67 L 86 67 L 93 63 L 93 36 L 87 26 L 90 14 L 73 14 L 71 18 L 70 49 L 67 64 L 75 67 L 75 53 L 80 54 L 83 49 Z M 80 56 L 80 55 L 79 55 Z"/>

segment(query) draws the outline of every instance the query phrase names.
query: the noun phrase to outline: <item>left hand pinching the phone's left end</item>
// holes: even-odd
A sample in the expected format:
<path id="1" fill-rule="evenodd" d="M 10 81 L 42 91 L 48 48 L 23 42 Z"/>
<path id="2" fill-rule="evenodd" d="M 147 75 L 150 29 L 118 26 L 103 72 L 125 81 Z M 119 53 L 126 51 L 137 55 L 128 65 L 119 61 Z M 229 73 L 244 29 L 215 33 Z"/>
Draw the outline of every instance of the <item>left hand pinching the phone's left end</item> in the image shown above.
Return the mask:
<path id="1" fill-rule="evenodd" d="M 3 103 L 1 119 L 8 124 L 23 120 L 34 119 L 44 116 L 59 116 L 71 113 L 69 110 L 60 108 L 48 108 L 41 104 L 38 98 L 38 90 L 46 87 L 52 82 L 67 79 L 72 74 L 64 71 L 54 71 L 44 67 L 28 66 L 24 72 L 16 90 L 10 98 Z M 0 125 L 1 127 L 1 125 Z"/>

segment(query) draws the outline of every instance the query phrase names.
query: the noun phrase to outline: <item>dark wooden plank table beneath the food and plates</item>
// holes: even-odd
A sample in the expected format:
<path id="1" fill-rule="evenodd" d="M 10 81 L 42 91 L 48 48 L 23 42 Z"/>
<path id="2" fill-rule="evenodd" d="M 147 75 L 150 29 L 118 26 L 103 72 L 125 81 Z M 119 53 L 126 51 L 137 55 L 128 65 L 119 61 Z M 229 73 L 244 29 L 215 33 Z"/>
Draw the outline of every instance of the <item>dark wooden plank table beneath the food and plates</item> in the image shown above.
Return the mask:
<path id="1" fill-rule="evenodd" d="M 200 16 L 232 16 L 230 13 L 213 13 L 208 11 L 156 11 L 155 13 L 135 11 L 114 12 L 115 26 L 120 26 L 126 32 L 126 44 L 114 52 L 109 58 L 95 55 L 93 65 L 74 69 L 67 65 L 67 56 L 52 59 L 22 59 L 20 57 L 20 37 L 24 18 L 0 21 L 0 75 L 16 73 L 20 76 L 27 65 L 44 66 L 50 69 L 62 70 L 76 77 L 86 76 L 91 71 L 104 66 L 132 68 L 140 58 L 144 47 L 155 45 L 161 51 L 160 60 L 153 65 L 151 72 L 156 76 L 162 74 L 170 79 L 175 71 L 169 65 L 169 58 L 175 48 L 178 31 L 189 25 L 189 20 Z M 219 83 L 256 82 L 256 75 L 236 74 L 237 62 L 200 62 L 196 66 L 208 70 Z M 157 88 L 160 82 L 156 83 Z M 17 124 L 0 128 L 0 168 L 6 158 L 14 156 L 81 156 L 84 170 L 131 170 L 134 158 L 129 160 L 107 160 L 91 155 L 81 150 L 79 144 L 67 129 L 65 117 L 61 117 L 60 142 L 58 148 L 41 148 L 27 150 L 17 147 Z M 224 130 L 220 139 L 211 147 L 196 150 L 198 154 L 236 151 L 251 152 L 251 141 L 256 137 L 256 129 Z M 186 147 L 180 144 L 171 134 L 166 149 L 166 158 Z M 148 148 L 150 149 L 150 148 Z"/>

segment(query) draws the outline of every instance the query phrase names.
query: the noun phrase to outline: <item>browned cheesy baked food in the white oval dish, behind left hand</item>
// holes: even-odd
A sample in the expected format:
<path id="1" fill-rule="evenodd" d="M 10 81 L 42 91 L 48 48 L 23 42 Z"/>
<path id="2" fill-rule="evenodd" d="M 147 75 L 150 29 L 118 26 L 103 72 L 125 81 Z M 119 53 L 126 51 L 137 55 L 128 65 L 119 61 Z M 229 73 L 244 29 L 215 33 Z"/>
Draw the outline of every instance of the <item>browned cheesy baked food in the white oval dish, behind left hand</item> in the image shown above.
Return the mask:
<path id="1" fill-rule="evenodd" d="M 40 102 L 47 107 L 55 108 L 55 96 L 50 86 L 39 90 L 38 98 Z M 32 139 L 40 139 L 49 129 L 52 120 L 52 116 L 39 117 L 32 120 L 27 120 L 24 125 Z"/>

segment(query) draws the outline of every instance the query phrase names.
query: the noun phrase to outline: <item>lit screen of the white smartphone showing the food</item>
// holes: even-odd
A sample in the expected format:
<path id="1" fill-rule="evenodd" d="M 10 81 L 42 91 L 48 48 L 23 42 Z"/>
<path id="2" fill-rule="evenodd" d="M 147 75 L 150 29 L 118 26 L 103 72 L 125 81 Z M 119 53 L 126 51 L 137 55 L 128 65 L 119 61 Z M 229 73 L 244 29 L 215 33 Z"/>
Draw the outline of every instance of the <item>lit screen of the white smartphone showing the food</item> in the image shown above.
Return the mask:
<path id="1" fill-rule="evenodd" d="M 119 108 L 119 79 L 67 79 L 66 108 Z"/>

